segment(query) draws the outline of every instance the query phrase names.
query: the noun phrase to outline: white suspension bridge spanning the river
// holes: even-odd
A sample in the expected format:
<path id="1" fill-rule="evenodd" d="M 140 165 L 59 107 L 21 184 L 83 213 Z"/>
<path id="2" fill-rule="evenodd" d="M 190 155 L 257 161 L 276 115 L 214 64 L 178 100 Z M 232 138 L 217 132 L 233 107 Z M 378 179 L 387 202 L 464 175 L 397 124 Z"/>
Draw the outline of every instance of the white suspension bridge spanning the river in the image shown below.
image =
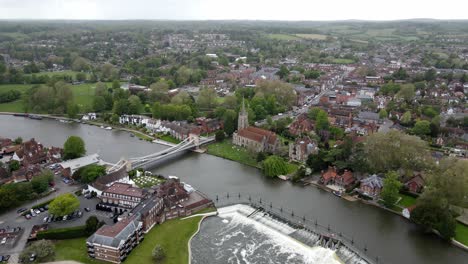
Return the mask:
<path id="1" fill-rule="evenodd" d="M 179 144 L 171 146 L 167 149 L 161 150 L 156 153 L 152 153 L 142 157 L 135 157 L 129 159 L 120 159 L 117 163 L 113 164 L 113 166 L 108 169 L 108 173 L 112 173 L 122 169 L 124 166 L 126 167 L 127 171 L 133 169 L 148 169 L 159 160 L 167 158 L 177 153 L 181 153 L 187 150 L 194 150 L 198 149 L 201 145 L 207 144 L 209 142 L 213 142 L 215 137 L 199 137 L 195 134 L 190 134 L 186 139 L 181 141 Z"/>

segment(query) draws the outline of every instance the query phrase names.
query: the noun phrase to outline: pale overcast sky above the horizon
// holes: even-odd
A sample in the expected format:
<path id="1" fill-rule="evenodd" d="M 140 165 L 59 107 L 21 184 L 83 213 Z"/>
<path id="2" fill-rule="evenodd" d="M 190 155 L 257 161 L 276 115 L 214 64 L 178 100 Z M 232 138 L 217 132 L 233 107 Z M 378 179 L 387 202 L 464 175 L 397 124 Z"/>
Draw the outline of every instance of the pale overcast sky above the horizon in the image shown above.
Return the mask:
<path id="1" fill-rule="evenodd" d="M 468 19 L 468 0 L 0 0 L 0 19 Z"/>

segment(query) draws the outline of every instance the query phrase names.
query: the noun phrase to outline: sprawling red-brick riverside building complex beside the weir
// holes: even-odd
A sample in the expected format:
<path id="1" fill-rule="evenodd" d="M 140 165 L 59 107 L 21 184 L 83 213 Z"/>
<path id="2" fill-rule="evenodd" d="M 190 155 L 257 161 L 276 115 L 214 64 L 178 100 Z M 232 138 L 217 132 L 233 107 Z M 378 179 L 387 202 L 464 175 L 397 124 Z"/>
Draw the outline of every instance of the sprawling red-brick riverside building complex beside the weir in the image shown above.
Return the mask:
<path id="1" fill-rule="evenodd" d="M 88 255 L 103 261 L 121 263 L 156 224 L 212 206 L 203 193 L 171 177 L 151 189 L 114 182 L 98 198 L 105 206 L 120 211 L 119 221 L 104 225 L 86 241 Z M 135 204 L 129 201 L 140 201 Z M 130 211 L 129 211 L 130 210 Z"/>

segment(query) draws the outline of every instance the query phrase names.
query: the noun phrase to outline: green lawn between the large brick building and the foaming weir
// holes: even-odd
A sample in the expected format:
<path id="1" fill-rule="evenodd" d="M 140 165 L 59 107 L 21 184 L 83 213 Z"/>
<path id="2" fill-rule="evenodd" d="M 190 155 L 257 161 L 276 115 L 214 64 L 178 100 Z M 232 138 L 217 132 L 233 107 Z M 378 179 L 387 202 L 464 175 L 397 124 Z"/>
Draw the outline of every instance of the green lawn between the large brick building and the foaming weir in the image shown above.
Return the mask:
<path id="1" fill-rule="evenodd" d="M 126 264 L 153 263 L 151 252 L 154 246 L 160 244 L 165 252 L 164 264 L 188 263 L 188 241 L 197 231 L 201 216 L 186 220 L 173 219 L 162 225 L 157 225 L 145 235 L 143 242 L 138 245 L 124 262 Z"/>

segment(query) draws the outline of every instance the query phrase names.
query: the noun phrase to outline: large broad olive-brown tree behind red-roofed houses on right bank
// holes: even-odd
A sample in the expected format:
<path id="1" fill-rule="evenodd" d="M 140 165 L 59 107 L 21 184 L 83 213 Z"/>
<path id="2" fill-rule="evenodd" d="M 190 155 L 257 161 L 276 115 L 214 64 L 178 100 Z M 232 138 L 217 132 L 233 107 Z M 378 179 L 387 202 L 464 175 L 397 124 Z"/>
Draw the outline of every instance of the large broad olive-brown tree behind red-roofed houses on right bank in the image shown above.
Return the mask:
<path id="1" fill-rule="evenodd" d="M 364 141 L 364 156 L 374 172 L 422 170 L 433 165 L 425 141 L 396 130 L 367 136 Z"/>

